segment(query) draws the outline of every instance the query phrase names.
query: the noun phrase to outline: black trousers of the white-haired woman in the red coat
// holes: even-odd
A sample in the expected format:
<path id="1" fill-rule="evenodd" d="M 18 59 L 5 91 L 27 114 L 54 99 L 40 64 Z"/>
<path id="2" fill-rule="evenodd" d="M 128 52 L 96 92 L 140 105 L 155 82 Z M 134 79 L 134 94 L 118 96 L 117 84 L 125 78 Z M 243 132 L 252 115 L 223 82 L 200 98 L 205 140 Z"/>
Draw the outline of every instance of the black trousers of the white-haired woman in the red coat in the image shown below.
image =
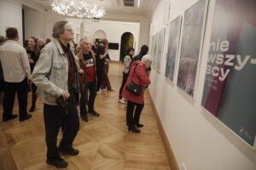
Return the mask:
<path id="1" fill-rule="evenodd" d="M 135 109 L 136 107 L 136 109 Z M 127 110 L 126 110 L 126 125 L 134 126 L 139 123 L 140 116 L 143 111 L 144 104 L 137 104 L 130 100 L 127 102 Z M 135 109 L 135 111 L 134 111 Z"/>

